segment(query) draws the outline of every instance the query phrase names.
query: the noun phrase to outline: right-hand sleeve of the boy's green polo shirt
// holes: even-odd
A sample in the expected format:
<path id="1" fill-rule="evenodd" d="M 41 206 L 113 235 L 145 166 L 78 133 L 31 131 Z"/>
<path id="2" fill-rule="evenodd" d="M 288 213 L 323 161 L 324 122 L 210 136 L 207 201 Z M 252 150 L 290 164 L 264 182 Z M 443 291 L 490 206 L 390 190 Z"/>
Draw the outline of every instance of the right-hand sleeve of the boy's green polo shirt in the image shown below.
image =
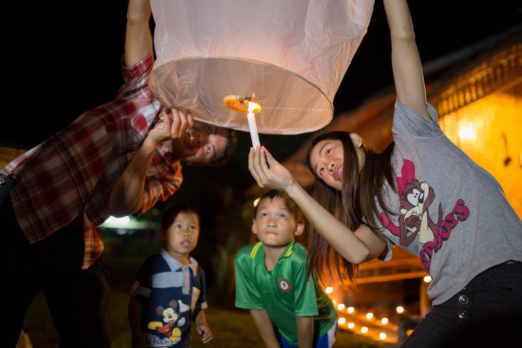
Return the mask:
<path id="1" fill-rule="evenodd" d="M 315 282 L 306 277 L 306 262 L 299 263 L 294 273 L 294 313 L 298 317 L 313 317 L 319 314 Z"/>

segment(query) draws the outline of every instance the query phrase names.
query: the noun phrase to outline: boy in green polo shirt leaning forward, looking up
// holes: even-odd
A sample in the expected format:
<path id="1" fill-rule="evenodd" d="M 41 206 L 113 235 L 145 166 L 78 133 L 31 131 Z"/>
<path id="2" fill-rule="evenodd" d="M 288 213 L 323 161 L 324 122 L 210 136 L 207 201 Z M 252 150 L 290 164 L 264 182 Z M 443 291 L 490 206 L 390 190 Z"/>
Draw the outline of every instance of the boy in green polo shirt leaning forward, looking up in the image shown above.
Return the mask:
<path id="1" fill-rule="evenodd" d="M 252 232 L 259 242 L 235 256 L 235 306 L 250 309 L 267 347 L 334 345 L 334 306 L 316 279 L 306 277 L 306 249 L 294 242 L 303 230 L 294 201 L 282 191 L 268 191 L 254 208 Z"/>

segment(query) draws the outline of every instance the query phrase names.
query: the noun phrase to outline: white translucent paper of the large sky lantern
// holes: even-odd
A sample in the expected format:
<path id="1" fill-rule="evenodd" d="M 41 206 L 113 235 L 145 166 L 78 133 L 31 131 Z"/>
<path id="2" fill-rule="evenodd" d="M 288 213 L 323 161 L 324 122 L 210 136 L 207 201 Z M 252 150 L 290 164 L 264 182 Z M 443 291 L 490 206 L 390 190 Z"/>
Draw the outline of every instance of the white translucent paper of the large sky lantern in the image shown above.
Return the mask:
<path id="1" fill-rule="evenodd" d="M 248 130 L 226 95 L 263 103 L 259 133 L 299 134 L 333 117 L 333 100 L 366 33 L 373 0 L 151 0 L 152 93 L 194 118 Z"/>

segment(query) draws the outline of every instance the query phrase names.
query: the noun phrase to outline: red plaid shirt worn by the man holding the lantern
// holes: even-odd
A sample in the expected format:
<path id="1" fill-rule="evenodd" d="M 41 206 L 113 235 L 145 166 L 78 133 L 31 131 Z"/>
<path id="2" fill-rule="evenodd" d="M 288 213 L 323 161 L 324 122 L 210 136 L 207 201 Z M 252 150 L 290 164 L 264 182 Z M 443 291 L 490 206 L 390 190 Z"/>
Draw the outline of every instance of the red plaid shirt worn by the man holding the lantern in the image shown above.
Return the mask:
<path id="1" fill-rule="evenodd" d="M 30 243 L 41 241 L 83 215 L 82 269 L 102 251 L 100 229 L 109 216 L 117 179 L 157 120 L 161 105 L 147 86 L 151 55 L 123 67 L 125 85 L 116 99 L 82 114 L 72 124 L 22 154 L 0 171 L 19 183 L 10 191 L 20 228 Z M 181 164 L 158 147 L 152 159 L 142 212 L 180 188 Z"/>

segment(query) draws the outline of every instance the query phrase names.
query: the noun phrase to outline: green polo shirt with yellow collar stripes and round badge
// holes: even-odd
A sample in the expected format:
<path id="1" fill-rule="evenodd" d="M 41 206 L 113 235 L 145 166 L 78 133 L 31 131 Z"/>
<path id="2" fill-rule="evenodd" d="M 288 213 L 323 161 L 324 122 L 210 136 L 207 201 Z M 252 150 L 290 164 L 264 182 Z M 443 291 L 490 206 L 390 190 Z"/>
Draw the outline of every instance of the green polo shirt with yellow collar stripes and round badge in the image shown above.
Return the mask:
<path id="1" fill-rule="evenodd" d="M 325 334 L 337 314 L 330 299 L 306 279 L 306 248 L 292 241 L 274 269 L 265 267 L 265 250 L 258 242 L 242 247 L 235 256 L 235 306 L 265 309 L 284 340 L 297 345 L 296 316 L 314 317 L 314 330 Z"/>

